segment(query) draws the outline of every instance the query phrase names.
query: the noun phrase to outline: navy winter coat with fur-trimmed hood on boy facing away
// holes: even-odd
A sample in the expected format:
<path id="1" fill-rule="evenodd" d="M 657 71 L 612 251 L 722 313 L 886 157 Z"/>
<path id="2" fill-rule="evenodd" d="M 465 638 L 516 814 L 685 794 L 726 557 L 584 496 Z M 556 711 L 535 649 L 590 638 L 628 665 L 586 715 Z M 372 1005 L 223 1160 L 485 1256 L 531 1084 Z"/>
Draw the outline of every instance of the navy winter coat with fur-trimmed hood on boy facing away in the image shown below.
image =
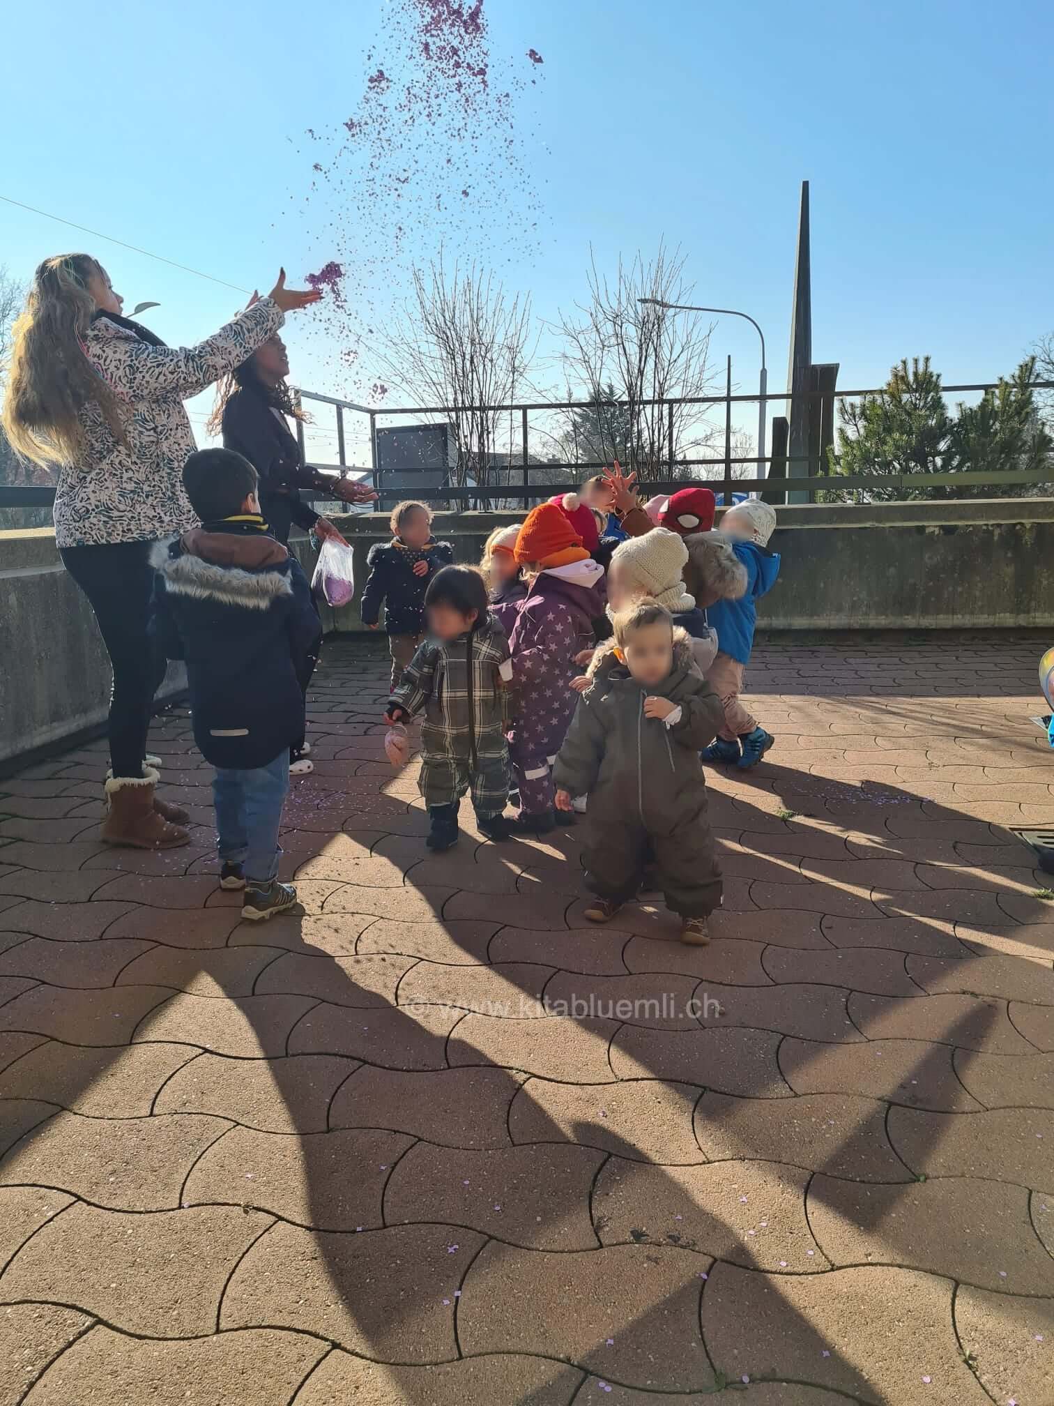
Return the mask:
<path id="1" fill-rule="evenodd" d="M 214 766 L 267 766 L 304 735 L 298 682 L 319 619 L 299 564 L 261 520 L 208 523 L 153 548 L 152 630 L 186 659 L 194 741 Z"/>

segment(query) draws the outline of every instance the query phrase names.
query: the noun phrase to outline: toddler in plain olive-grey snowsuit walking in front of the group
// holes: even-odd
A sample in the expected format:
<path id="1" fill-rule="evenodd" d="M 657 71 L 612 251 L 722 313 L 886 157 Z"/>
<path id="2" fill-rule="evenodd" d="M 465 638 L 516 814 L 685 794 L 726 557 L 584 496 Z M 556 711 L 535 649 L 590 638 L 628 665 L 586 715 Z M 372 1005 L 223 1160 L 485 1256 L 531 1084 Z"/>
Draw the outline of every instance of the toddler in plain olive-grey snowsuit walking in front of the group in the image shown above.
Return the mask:
<path id="1" fill-rule="evenodd" d="M 721 872 L 707 820 L 698 752 L 722 721 L 721 703 L 691 662 L 687 636 L 646 600 L 616 616 L 618 666 L 583 695 L 554 780 L 557 806 L 589 792 L 586 884 L 590 922 L 610 922 L 637 893 L 653 855 L 682 942 L 710 941 Z M 649 849 L 651 846 L 651 849 Z"/>

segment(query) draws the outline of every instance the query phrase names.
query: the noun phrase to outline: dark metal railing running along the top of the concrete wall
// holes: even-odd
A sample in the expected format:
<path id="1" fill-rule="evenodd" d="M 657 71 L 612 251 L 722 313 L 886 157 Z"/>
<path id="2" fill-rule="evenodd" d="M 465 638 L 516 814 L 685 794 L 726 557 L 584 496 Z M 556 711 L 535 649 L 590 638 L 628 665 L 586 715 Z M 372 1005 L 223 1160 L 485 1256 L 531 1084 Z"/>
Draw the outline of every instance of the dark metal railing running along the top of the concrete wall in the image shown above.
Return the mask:
<path id="1" fill-rule="evenodd" d="M 985 391 L 996 389 L 999 382 L 996 381 L 977 381 L 961 385 L 944 385 L 942 387 L 943 395 L 967 395 L 967 394 L 984 394 Z M 1032 389 L 1050 391 L 1054 389 L 1054 381 L 1033 381 L 1030 382 Z M 883 394 L 883 388 L 867 388 L 867 389 L 853 389 L 853 391 L 802 391 L 800 396 L 794 396 L 795 401 L 814 401 L 826 399 L 829 406 L 838 405 L 846 401 L 860 401 L 867 396 L 877 396 Z M 600 460 L 580 460 L 575 458 L 572 463 L 557 461 L 557 460 L 540 460 L 531 458 L 531 416 L 533 415 L 548 415 L 548 416 L 568 416 L 576 411 L 604 411 L 604 409 L 620 409 L 627 408 L 627 401 L 533 401 L 533 402 L 513 402 L 507 405 L 493 405 L 493 406 L 447 406 L 447 405 L 430 405 L 430 406 L 367 406 L 358 405 L 354 401 L 340 399 L 339 396 L 322 395 L 315 391 L 299 389 L 297 391 L 298 401 L 312 401 L 320 405 L 327 405 L 333 408 L 334 412 L 334 427 L 336 427 L 336 458 L 337 463 L 320 461 L 316 454 L 312 454 L 308 463 L 311 467 L 325 472 L 333 474 L 351 474 L 356 477 L 371 477 L 377 492 L 381 496 L 381 505 L 385 501 L 393 501 L 395 496 L 405 496 L 405 486 L 389 486 L 385 491 L 385 471 L 378 468 L 378 453 L 377 453 L 377 432 L 379 420 L 392 420 L 396 418 L 424 420 L 426 423 L 441 423 L 443 416 L 458 415 L 458 413 L 492 413 L 492 415 L 509 415 L 519 419 L 519 447 L 516 450 L 516 463 L 513 463 L 512 447 L 509 453 L 492 454 L 492 458 L 500 457 L 503 463 L 500 465 L 489 464 L 486 468 L 488 482 L 483 484 L 458 484 L 458 482 L 444 482 L 438 489 L 429 489 L 426 496 L 441 498 L 458 505 L 481 505 L 486 503 L 490 506 L 495 499 L 513 501 L 528 506 L 535 499 L 542 499 L 551 496 L 561 488 L 568 486 L 568 474 L 575 477 L 582 477 L 585 474 L 597 472 L 604 467 L 604 461 Z M 880 475 L 843 475 L 832 474 L 828 468 L 828 456 L 821 453 L 819 449 L 807 456 L 788 456 L 788 454 L 767 454 L 767 456 L 743 456 L 735 454 L 734 450 L 734 426 L 732 426 L 732 408 L 736 405 L 767 405 L 779 404 L 787 405 L 788 395 L 786 391 L 769 392 L 766 395 L 759 394 L 736 394 L 732 391 L 731 382 L 731 361 L 728 367 L 728 385 L 724 395 L 700 395 L 700 396 L 669 396 L 669 398 L 653 398 L 641 399 L 635 402 L 635 411 L 649 411 L 659 412 L 665 418 L 665 443 L 676 446 L 676 427 L 677 416 L 683 413 L 684 409 L 698 409 L 700 412 L 707 408 L 724 408 L 724 451 L 721 454 L 711 454 L 707 457 L 691 457 L 687 454 L 676 453 L 676 447 L 672 456 L 658 458 L 655 463 L 646 465 L 646 488 L 649 492 L 670 492 L 675 488 L 683 486 L 686 478 L 690 478 L 693 484 L 700 484 L 714 489 L 717 494 L 724 495 L 725 502 L 731 502 L 732 492 L 760 492 L 769 489 L 773 494 L 786 494 L 790 499 L 791 496 L 797 501 L 815 501 L 818 492 L 836 492 L 854 491 L 866 494 L 868 489 L 883 489 L 885 494 L 890 491 L 895 492 L 918 492 L 920 488 L 1020 488 L 1040 484 L 1051 482 L 1051 471 L 1029 471 L 1029 470 L 995 470 L 995 471 L 961 471 L 961 472 L 947 472 L 947 474 L 930 474 L 930 472 L 908 472 L 908 474 L 880 474 Z M 349 461 L 347 444 L 347 413 L 363 416 L 365 423 L 367 436 L 360 437 L 360 443 L 368 444 L 368 463 L 353 464 Z M 306 451 L 306 436 L 312 433 L 313 426 L 305 426 L 297 422 L 297 436 L 301 444 L 301 450 Z M 322 432 L 332 437 L 333 432 Z M 547 436 L 552 439 L 549 430 L 534 429 L 535 443 L 540 436 Z M 306 457 L 306 453 L 305 453 Z M 838 456 L 832 456 L 838 461 Z M 609 458 L 610 464 L 611 460 Z M 770 470 L 776 464 L 780 470 L 779 478 L 770 477 Z M 756 472 L 753 477 L 743 474 L 743 468 L 753 465 Z M 638 465 L 639 467 L 639 465 Z M 707 474 L 700 472 L 705 470 L 714 470 L 715 472 Z M 800 471 L 798 471 L 800 470 Z M 548 471 L 548 472 L 547 472 Z M 665 471 L 665 472 L 663 472 Z M 389 470 L 393 474 L 413 474 L 413 472 L 429 472 L 420 465 L 406 464 L 396 465 Z M 431 470 L 430 472 L 434 472 Z M 557 474 L 562 474 L 559 478 Z M 329 502 L 330 499 L 325 492 L 305 491 L 305 498 L 322 499 Z M 49 506 L 55 498 L 53 485 L 14 485 L 4 486 L 0 485 L 0 509 L 3 508 L 44 508 Z"/>

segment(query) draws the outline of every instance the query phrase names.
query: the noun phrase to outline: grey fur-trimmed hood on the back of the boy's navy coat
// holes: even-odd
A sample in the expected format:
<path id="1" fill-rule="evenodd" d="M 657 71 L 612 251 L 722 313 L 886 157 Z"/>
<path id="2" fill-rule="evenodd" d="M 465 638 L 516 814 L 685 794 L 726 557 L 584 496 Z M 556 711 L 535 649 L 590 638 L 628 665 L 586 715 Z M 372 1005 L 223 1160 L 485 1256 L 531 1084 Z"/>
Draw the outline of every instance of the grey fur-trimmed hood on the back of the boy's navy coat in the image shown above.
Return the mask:
<path id="1" fill-rule="evenodd" d="M 197 550 L 191 550 L 188 540 Z M 214 553 L 223 557 L 222 564 L 207 560 Z M 268 610 L 275 600 L 292 595 L 289 554 L 271 537 L 228 537 L 193 529 L 176 541 L 159 541 L 150 553 L 150 565 L 173 596 Z"/>

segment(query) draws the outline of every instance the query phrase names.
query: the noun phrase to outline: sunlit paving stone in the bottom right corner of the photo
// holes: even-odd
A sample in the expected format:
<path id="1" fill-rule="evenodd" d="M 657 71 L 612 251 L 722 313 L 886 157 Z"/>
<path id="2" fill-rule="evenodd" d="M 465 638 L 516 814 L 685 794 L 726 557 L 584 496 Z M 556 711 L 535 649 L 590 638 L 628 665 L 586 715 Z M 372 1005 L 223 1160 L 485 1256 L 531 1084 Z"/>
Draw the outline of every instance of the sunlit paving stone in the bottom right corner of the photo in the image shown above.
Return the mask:
<path id="1" fill-rule="evenodd" d="M 978 1379 L 992 1400 L 1029 1406 L 1050 1395 L 1051 1299 L 992 1294 L 964 1284 L 956 1295 L 956 1329 L 963 1350 L 974 1354 Z"/>

